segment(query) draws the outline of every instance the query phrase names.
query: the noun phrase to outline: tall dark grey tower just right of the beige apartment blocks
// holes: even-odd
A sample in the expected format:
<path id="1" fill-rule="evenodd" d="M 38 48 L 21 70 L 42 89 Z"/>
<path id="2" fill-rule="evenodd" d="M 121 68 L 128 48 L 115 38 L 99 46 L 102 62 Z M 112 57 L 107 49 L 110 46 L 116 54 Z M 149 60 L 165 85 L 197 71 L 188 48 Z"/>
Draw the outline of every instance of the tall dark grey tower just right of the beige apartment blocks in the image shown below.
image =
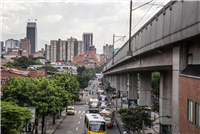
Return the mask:
<path id="1" fill-rule="evenodd" d="M 85 43 L 85 52 L 89 52 L 89 46 L 93 45 L 93 33 L 83 33 L 83 41 Z"/>

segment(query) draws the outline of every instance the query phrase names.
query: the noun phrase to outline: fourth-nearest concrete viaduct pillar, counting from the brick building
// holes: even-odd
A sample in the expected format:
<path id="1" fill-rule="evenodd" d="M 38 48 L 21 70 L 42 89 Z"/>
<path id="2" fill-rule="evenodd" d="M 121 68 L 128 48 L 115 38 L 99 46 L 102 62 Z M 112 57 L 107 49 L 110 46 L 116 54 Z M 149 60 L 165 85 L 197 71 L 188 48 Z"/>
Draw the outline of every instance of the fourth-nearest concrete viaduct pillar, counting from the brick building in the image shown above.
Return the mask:
<path id="1" fill-rule="evenodd" d="M 129 74 L 129 100 L 137 100 L 137 73 Z"/>

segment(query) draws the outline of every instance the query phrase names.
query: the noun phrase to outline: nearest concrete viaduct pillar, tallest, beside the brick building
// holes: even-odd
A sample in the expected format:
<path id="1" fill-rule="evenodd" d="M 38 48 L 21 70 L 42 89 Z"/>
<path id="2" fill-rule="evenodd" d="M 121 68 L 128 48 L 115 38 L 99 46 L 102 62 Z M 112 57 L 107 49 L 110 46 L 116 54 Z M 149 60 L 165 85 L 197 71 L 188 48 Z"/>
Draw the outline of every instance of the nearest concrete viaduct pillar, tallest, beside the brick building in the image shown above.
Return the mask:
<path id="1" fill-rule="evenodd" d="M 173 45 L 172 72 L 172 133 L 179 133 L 179 74 L 187 66 L 187 44 Z"/>

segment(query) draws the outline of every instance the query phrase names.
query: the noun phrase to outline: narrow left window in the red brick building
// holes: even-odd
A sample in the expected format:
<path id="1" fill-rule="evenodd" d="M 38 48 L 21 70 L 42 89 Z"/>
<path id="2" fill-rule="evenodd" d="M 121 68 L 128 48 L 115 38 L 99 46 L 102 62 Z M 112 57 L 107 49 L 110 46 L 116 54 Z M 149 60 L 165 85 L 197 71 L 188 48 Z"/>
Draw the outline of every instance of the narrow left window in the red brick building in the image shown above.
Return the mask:
<path id="1" fill-rule="evenodd" d="M 193 124 L 193 100 L 187 100 L 187 120 Z"/>

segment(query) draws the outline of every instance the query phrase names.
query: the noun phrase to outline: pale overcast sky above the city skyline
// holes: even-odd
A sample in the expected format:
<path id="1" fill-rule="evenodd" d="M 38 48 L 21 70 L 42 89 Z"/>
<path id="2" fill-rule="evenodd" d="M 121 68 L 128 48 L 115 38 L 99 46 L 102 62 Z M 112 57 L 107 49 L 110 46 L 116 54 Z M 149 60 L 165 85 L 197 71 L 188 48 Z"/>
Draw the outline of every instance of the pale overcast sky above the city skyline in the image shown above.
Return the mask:
<path id="1" fill-rule="evenodd" d="M 133 8 L 150 0 L 133 0 Z M 165 5 L 170 0 L 153 1 Z M 47 41 L 66 40 L 69 37 L 82 40 L 84 32 L 93 33 L 93 42 L 98 53 L 102 53 L 104 44 L 112 44 L 113 34 L 124 36 L 129 30 L 130 0 L 48 0 L 20 1 L 2 0 L 2 27 L 0 40 L 16 39 L 26 36 L 28 19 L 37 19 L 38 38 Z M 138 21 L 138 29 L 151 18 L 162 6 L 146 5 L 133 12 L 133 27 Z M 16 36 L 20 35 L 20 36 Z M 121 47 L 128 39 L 116 43 L 115 48 Z M 117 38 L 116 38 L 117 40 Z M 38 49 L 44 43 L 38 43 Z"/>

